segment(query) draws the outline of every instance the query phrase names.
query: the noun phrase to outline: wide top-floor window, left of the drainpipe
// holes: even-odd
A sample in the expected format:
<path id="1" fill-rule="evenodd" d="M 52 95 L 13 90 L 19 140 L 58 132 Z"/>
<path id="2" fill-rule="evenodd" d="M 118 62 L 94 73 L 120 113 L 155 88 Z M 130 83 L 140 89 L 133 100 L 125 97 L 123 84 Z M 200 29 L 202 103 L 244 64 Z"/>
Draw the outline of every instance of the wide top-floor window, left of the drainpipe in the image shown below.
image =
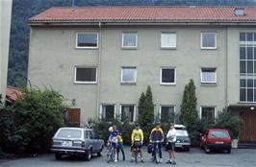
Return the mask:
<path id="1" fill-rule="evenodd" d="M 76 48 L 98 48 L 98 34 L 77 33 Z"/>

